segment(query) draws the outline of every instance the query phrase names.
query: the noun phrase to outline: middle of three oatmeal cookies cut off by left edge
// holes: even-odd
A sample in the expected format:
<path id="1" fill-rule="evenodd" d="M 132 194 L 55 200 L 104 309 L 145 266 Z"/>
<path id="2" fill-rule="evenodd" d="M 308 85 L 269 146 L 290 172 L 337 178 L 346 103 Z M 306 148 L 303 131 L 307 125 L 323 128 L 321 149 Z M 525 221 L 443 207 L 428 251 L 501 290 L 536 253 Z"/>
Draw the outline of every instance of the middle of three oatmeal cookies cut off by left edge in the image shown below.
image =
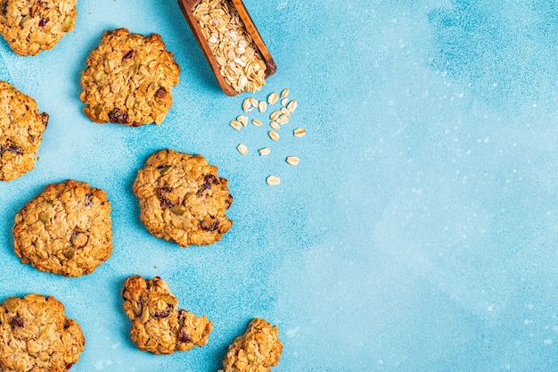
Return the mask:
<path id="1" fill-rule="evenodd" d="M 11 84 L 0 81 L 0 180 L 21 177 L 35 167 L 48 114 Z"/>

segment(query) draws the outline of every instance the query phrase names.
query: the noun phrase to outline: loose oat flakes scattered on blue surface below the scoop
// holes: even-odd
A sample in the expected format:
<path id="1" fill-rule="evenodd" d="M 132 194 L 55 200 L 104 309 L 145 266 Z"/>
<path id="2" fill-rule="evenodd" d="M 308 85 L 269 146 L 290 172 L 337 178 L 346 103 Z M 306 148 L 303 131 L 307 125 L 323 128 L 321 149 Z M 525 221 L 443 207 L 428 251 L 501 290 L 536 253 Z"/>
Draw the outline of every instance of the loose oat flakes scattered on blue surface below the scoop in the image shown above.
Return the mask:
<path id="1" fill-rule="evenodd" d="M 267 111 L 267 106 L 273 106 L 275 103 L 279 102 L 279 98 L 281 98 L 281 107 L 269 115 L 269 126 L 275 130 L 269 130 L 267 135 L 270 139 L 275 142 L 278 142 L 281 139 L 279 136 L 279 131 L 285 124 L 287 124 L 291 120 L 291 114 L 297 109 L 298 102 L 296 100 L 291 100 L 289 98 L 289 89 L 283 89 L 281 95 L 274 92 L 270 95 L 267 95 L 267 100 L 258 101 L 253 97 L 248 97 L 244 99 L 242 102 L 242 111 L 249 113 L 249 112 L 260 112 L 265 113 Z M 247 127 L 248 123 L 251 122 L 256 127 L 263 127 L 264 123 L 261 120 L 252 119 L 247 115 L 239 115 L 236 117 L 235 120 L 231 120 L 230 126 L 235 130 L 242 130 L 242 128 Z M 292 131 L 292 135 L 296 137 L 302 137 L 306 135 L 305 128 L 296 128 Z M 248 147 L 244 144 L 239 144 L 236 147 L 236 150 L 241 155 L 247 155 L 249 153 Z M 267 156 L 271 153 L 271 149 L 269 147 L 263 147 L 258 150 L 260 156 Z M 285 161 L 288 164 L 293 166 L 297 166 L 300 163 L 300 159 L 296 156 L 287 156 Z M 281 183 L 281 178 L 276 176 L 269 176 L 266 178 L 267 185 L 270 186 L 277 186 Z"/>

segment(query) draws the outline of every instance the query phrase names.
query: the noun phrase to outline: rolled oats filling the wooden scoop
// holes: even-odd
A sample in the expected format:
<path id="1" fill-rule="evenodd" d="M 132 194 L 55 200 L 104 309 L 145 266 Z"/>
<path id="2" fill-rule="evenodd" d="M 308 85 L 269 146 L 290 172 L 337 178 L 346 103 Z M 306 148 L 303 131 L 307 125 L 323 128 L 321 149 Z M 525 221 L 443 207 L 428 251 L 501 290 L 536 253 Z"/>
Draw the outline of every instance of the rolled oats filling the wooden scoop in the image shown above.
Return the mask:
<path id="1" fill-rule="evenodd" d="M 230 0 L 201 0 L 193 16 L 227 84 L 252 93 L 266 85 L 266 63 Z"/>

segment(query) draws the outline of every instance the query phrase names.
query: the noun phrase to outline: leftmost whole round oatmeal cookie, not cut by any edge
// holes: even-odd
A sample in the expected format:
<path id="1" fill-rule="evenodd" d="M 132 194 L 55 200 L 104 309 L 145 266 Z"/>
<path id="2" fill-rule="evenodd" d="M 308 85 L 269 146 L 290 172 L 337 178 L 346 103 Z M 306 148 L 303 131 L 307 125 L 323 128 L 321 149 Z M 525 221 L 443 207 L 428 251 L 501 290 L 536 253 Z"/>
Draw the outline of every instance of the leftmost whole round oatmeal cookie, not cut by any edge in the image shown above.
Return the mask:
<path id="1" fill-rule="evenodd" d="M 22 263 L 80 277 L 111 257 L 111 203 L 84 182 L 52 184 L 19 211 L 12 232 Z"/>

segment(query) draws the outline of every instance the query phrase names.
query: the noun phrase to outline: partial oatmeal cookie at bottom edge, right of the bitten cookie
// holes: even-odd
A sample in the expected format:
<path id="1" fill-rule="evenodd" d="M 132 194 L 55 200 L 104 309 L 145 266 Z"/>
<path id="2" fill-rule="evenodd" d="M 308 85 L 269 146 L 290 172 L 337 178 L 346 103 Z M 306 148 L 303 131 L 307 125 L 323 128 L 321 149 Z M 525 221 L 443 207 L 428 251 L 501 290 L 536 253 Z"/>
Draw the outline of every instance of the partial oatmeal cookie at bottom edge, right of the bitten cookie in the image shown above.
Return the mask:
<path id="1" fill-rule="evenodd" d="M 277 327 L 267 320 L 253 319 L 244 335 L 236 337 L 229 346 L 224 368 L 219 372 L 269 372 L 283 351 L 278 334 Z"/>

